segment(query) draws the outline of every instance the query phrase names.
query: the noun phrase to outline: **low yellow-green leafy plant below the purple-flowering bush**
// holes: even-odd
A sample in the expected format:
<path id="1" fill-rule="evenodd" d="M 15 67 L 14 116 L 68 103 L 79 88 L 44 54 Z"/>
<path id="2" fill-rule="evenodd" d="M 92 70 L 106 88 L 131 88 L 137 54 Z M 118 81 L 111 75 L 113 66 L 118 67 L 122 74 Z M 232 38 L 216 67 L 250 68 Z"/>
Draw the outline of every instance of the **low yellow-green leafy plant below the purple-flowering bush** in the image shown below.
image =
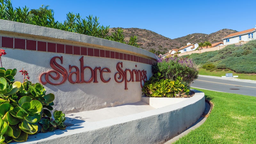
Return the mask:
<path id="1" fill-rule="evenodd" d="M 177 77 L 175 81 L 170 79 L 161 79 L 161 73 L 158 72 L 150 77 L 143 88 L 142 92 L 150 97 L 187 97 L 189 89 L 181 83 L 182 78 Z"/>

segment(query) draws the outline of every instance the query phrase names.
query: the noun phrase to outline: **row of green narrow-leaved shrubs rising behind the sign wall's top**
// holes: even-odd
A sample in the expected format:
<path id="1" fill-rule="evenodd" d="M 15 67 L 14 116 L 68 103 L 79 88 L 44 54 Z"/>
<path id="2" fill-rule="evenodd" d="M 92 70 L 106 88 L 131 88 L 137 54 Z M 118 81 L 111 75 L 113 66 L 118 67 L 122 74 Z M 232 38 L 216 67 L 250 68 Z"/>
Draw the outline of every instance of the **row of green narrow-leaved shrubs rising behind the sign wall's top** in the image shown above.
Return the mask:
<path id="1" fill-rule="evenodd" d="M 39 9 L 32 9 L 31 11 L 29 11 L 29 8 L 26 6 L 15 9 L 12 7 L 10 0 L 0 0 L 0 19 L 61 29 L 140 47 L 137 43 L 137 36 L 131 36 L 129 42 L 125 42 L 123 30 L 121 28 L 116 28 L 109 36 L 109 26 L 100 26 L 98 21 L 99 18 L 97 17 L 92 17 L 90 15 L 86 17 L 86 19 L 82 19 L 79 13 L 74 14 L 73 12 L 68 12 L 67 20 L 62 24 L 59 21 L 55 21 L 53 17 L 53 10 L 48 9 L 48 7 L 49 5 L 42 5 Z"/>

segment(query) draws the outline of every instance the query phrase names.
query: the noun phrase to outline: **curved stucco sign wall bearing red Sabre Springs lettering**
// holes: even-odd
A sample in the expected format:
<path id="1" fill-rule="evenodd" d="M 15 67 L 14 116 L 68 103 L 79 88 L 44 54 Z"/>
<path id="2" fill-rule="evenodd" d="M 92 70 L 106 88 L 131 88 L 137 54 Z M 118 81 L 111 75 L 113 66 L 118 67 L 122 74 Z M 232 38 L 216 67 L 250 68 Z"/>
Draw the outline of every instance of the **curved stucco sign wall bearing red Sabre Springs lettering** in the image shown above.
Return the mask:
<path id="1" fill-rule="evenodd" d="M 140 101 L 156 61 L 130 45 L 7 20 L 0 20 L 0 36 L 3 67 L 28 70 L 65 113 Z M 23 80 L 19 73 L 15 78 Z"/>

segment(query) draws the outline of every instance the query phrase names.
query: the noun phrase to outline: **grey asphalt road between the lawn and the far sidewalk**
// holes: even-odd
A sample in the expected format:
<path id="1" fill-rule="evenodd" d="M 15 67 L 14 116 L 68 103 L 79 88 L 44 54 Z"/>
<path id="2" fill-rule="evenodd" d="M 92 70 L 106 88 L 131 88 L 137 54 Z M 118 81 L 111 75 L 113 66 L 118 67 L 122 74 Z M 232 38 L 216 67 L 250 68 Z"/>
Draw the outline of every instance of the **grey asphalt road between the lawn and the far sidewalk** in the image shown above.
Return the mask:
<path id="1" fill-rule="evenodd" d="M 237 80 L 235 78 L 221 78 L 215 76 L 198 76 L 197 80 L 195 80 L 190 86 L 194 88 L 256 97 L 256 81 Z"/>

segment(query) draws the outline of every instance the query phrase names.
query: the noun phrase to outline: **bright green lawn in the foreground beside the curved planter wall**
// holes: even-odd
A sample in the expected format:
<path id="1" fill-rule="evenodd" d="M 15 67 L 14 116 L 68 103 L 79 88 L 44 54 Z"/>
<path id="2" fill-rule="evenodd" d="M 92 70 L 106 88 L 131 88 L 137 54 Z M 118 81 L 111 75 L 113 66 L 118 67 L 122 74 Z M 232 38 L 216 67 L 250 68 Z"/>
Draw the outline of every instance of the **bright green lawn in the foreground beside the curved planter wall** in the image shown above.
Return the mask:
<path id="1" fill-rule="evenodd" d="M 214 106 L 204 124 L 175 144 L 256 143 L 256 97 L 201 90 Z"/>

